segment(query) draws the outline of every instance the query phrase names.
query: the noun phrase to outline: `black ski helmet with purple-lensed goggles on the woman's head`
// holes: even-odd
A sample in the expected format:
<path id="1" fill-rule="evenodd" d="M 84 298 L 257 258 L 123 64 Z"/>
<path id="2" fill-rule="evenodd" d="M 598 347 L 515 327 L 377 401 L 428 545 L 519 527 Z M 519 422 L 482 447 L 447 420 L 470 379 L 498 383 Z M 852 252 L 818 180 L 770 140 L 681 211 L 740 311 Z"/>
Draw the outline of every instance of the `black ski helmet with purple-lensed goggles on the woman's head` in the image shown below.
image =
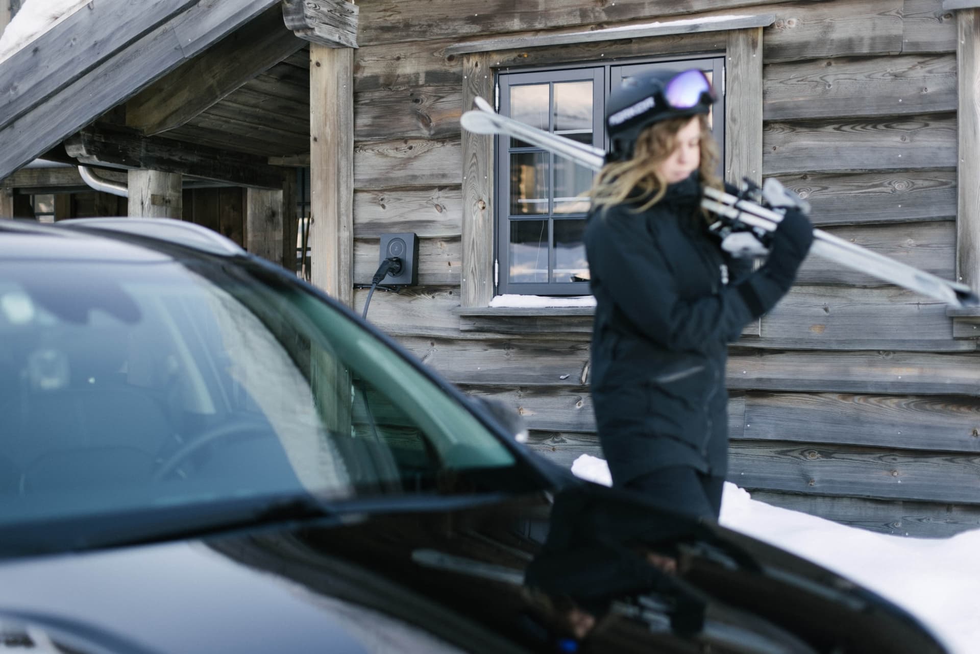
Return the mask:
<path id="1" fill-rule="evenodd" d="M 699 69 L 660 70 L 633 75 L 613 89 L 606 103 L 610 149 L 606 161 L 633 156 L 633 146 L 646 127 L 671 118 L 707 114 L 714 102 L 708 77 Z"/>

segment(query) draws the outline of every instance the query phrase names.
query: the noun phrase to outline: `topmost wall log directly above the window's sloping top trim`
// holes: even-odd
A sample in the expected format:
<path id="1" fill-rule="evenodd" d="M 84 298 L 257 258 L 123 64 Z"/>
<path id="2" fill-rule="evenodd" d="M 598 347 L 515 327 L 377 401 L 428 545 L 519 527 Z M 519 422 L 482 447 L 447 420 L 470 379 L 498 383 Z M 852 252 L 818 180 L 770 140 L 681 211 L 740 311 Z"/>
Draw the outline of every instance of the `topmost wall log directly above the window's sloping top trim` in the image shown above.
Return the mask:
<path id="1" fill-rule="evenodd" d="M 452 3 L 368 3 L 361 6 L 362 46 L 439 38 L 463 38 L 556 26 L 613 24 L 649 17 L 666 20 L 710 11 L 758 8 L 780 0 L 457 0 Z M 745 12 L 742 12 L 745 13 Z M 765 12 L 759 12 L 765 13 Z"/>

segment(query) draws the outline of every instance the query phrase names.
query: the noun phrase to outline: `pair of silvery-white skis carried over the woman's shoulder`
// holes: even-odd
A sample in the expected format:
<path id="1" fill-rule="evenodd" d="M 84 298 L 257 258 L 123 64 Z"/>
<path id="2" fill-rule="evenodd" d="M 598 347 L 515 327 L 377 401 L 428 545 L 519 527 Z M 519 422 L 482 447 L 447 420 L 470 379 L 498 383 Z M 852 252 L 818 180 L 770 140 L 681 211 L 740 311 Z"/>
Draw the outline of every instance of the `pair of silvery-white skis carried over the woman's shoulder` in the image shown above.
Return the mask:
<path id="1" fill-rule="evenodd" d="M 514 136 L 594 171 L 599 171 L 605 165 L 606 153 L 599 148 L 501 116 L 483 98 L 477 97 L 475 105 L 476 109 L 467 111 L 460 119 L 460 123 L 468 131 L 477 134 Z M 795 194 L 785 190 L 775 179 L 766 180 L 765 186 L 756 190 L 758 191 L 756 198 L 748 199 L 706 188 L 702 207 L 719 217 L 721 228 L 726 232 L 755 232 L 762 235 L 764 239 L 764 234 L 773 231 L 783 218 L 778 207 L 764 206 L 767 204 L 765 200 L 782 194 L 787 204 L 805 204 Z M 842 266 L 940 300 L 952 307 L 980 305 L 980 298 L 965 284 L 920 271 L 822 229 L 813 229 L 813 244 L 810 252 Z"/>

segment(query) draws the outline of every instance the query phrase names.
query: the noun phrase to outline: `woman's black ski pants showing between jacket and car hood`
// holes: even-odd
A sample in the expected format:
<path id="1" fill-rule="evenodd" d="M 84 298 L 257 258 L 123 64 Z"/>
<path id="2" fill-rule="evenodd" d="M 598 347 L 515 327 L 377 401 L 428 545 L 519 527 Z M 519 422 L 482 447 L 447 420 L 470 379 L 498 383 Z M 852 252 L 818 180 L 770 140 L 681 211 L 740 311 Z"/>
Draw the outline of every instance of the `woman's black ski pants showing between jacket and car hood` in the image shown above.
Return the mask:
<path id="1" fill-rule="evenodd" d="M 643 493 L 669 511 L 717 521 L 724 483 L 723 477 L 705 475 L 688 466 L 671 466 L 634 478 L 626 488 Z"/>

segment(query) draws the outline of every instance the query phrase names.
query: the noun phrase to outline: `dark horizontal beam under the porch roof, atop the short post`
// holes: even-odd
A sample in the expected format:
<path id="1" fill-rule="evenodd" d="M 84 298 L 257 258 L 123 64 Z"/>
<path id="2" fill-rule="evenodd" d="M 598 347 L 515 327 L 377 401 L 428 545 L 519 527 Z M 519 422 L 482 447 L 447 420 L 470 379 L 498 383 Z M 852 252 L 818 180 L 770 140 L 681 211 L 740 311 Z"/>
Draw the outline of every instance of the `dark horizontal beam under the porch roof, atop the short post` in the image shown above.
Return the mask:
<path id="1" fill-rule="evenodd" d="M 282 185 L 282 174 L 264 157 L 144 136 L 132 127 L 88 126 L 68 139 L 65 148 L 82 164 L 179 173 L 260 188 L 278 189 Z"/>

